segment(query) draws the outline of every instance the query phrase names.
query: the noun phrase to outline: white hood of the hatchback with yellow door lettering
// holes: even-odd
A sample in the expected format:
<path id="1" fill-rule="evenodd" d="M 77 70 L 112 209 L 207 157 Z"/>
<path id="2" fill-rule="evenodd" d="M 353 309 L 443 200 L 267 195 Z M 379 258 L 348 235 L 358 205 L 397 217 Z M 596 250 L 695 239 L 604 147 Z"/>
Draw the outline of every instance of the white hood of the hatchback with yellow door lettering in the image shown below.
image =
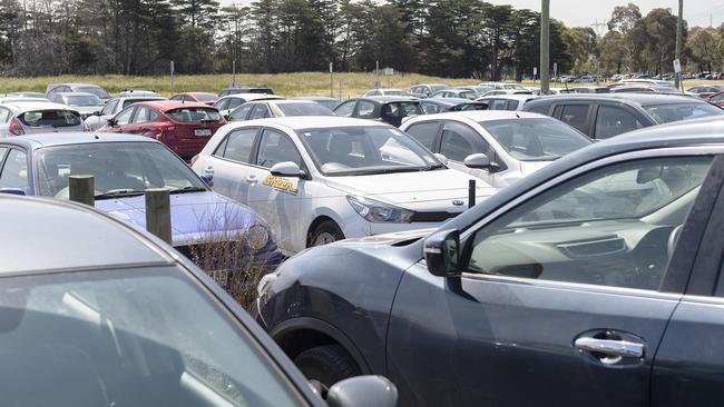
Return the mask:
<path id="1" fill-rule="evenodd" d="M 446 169 L 424 172 L 398 172 L 372 176 L 330 177 L 327 186 L 349 195 L 381 200 L 412 210 L 467 208 L 468 180 L 474 177 Z M 477 200 L 497 192 L 486 181 L 477 181 Z M 453 201 L 462 204 L 453 205 Z"/>

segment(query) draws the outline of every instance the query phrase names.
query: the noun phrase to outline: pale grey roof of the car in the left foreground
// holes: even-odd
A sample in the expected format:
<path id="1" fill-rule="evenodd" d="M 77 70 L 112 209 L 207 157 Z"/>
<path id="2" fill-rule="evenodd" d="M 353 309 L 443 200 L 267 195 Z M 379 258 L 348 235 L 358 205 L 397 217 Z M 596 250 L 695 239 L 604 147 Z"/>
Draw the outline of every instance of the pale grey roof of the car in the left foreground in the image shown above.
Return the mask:
<path id="1" fill-rule="evenodd" d="M 0 212 L 0 276 L 175 261 L 151 238 L 80 204 L 2 195 Z"/>

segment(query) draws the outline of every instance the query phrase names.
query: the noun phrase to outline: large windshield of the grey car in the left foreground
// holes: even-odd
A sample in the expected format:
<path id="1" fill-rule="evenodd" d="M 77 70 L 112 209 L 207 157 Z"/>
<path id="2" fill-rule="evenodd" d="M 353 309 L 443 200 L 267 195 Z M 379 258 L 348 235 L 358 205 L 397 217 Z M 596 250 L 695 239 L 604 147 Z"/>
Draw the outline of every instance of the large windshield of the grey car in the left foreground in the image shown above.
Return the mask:
<path id="1" fill-rule="evenodd" d="M 1 278 L 0 353 L 11 406 L 303 404 L 251 334 L 173 266 Z"/>

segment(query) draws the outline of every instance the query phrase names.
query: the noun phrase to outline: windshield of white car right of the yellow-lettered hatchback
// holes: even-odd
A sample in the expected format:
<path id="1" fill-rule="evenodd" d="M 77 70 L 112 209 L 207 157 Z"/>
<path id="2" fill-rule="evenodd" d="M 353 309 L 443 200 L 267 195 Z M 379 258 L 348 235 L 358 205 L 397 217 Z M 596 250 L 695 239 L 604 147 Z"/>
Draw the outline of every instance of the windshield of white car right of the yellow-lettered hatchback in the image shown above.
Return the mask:
<path id="1" fill-rule="evenodd" d="M 570 126 L 555 119 L 481 121 L 508 153 L 520 161 L 551 161 L 591 143 Z"/>

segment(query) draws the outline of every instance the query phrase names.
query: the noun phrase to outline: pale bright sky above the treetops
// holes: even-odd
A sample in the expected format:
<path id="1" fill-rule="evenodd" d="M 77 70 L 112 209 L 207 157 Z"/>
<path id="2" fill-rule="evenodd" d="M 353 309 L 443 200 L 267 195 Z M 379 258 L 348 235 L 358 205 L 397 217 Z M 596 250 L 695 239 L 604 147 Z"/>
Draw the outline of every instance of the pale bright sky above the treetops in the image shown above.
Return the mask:
<path id="1" fill-rule="evenodd" d="M 493 4 L 511 4 L 516 9 L 540 11 L 540 0 L 487 1 Z M 252 0 L 221 0 L 223 6 L 251 2 Z M 590 27 L 596 22 L 605 23 L 610 19 L 614 7 L 626 6 L 628 2 L 637 4 L 643 16 L 654 8 L 671 8 L 676 14 L 678 8 L 678 0 L 550 0 L 550 17 L 568 27 Z M 708 27 L 710 18 L 714 27 L 724 22 L 724 0 L 684 0 L 684 19 L 688 21 L 688 27 Z"/>

